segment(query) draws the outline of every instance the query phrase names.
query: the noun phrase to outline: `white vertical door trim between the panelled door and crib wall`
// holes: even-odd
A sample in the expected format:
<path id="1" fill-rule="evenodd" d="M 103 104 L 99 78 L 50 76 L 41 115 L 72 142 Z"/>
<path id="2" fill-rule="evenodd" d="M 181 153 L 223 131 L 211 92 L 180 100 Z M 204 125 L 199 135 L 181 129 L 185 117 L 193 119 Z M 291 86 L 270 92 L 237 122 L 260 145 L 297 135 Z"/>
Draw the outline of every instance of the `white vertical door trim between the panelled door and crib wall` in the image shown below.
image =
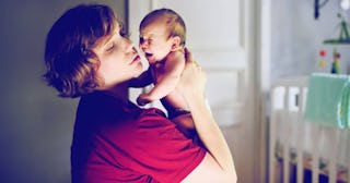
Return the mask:
<path id="1" fill-rule="evenodd" d="M 259 135 L 256 142 L 257 150 L 257 179 L 256 181 L 266 182 L 270 174 L 268 174 L 268 137 L 267 137 L 267 120 L 269 113 L 269 99 L 270 91 L 270 21 L 271 21 L 271 0 L 261 0 L 256 3 L 256 50 L 257 50 L 257 64 L 256 64 L 256 106 L 258 117 L 257 134 Z"/>

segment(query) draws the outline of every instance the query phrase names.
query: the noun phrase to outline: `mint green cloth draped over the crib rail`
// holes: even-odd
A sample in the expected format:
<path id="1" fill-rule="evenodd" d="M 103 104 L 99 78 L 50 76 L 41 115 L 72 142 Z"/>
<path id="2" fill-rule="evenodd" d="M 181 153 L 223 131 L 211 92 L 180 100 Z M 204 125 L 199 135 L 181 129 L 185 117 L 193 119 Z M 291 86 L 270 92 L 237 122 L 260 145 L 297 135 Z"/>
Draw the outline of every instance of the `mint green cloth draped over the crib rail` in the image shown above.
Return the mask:
<path id="1" fill-rule="evenodd" d="M 339 74 L 312 74 L 304 117 L 311 122 L 350 127 L 349 76 Z"/>

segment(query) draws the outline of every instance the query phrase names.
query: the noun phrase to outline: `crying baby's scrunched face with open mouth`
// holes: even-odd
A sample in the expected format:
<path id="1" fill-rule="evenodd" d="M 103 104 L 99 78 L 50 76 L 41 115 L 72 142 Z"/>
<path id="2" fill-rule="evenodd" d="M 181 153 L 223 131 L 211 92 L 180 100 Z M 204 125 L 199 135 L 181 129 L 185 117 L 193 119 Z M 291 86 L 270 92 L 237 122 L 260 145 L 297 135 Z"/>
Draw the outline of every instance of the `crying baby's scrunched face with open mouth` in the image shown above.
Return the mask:
<path id="1" fill-rule="evenodd" d="M 150 64 L 162 61 L 172 50 L 166 24 L 154 21 L 140 30 L 140 49 Z"/>

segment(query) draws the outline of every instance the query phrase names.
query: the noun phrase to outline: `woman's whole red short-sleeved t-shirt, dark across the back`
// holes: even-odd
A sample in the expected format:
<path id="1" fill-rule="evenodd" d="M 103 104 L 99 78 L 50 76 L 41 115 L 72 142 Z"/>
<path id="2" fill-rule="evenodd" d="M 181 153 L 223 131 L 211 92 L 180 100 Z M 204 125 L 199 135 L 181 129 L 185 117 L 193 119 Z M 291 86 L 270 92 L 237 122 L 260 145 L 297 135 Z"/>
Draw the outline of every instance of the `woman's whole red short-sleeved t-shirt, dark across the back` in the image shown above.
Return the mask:
<path id="1" fill-rule="evenodd" d="M 159 109 L 102 93 L 80 100 L 71 146 L 73 183 L 180 182 L 205 155 Z"/>

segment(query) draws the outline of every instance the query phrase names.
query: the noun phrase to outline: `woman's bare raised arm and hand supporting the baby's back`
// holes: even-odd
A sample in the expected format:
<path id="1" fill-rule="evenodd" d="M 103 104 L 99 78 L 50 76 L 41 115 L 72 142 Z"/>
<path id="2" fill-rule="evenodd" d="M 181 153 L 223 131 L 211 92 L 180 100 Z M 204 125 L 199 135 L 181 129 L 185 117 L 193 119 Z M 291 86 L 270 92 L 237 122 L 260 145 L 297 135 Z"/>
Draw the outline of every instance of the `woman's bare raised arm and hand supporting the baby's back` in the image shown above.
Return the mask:
<path id="1" fill-rule="evenodd" d="M 230 148 L 205 99 L 206 76 L 186 50 L 186 66 L 178 89 L 187 100 L 199 138 L 208 149 L 203 161 L 184 182 L 236 182 Z"/>

